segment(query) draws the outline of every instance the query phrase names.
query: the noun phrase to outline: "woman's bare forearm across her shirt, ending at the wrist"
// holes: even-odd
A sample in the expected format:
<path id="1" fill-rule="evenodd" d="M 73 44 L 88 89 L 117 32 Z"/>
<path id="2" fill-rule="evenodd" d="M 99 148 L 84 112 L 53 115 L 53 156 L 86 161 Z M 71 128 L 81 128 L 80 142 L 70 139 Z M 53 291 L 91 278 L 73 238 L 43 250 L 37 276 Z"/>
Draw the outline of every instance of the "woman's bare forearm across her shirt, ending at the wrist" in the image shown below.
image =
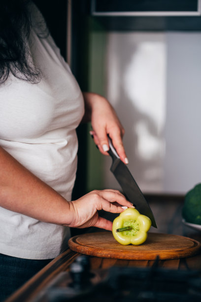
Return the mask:
<path id="1" fill-rule="evenodd" d="M 0 148 L 0 206 L 47 223 L 70 224 L 70 203 Z"/>

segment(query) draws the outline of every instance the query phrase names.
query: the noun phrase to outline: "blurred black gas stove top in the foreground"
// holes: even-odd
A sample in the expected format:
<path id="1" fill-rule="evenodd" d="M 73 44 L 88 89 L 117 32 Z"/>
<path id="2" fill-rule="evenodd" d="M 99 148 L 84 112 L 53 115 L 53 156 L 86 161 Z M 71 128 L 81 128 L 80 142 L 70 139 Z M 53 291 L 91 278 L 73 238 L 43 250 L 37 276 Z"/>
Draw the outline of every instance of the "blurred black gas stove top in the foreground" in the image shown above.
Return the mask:
<path id="1" fill-rule="evenodd" d="M 200 302 L 201 272 L 158 267 L 118 267 L 91 272 L 80 256 L 33 302 Z"/>

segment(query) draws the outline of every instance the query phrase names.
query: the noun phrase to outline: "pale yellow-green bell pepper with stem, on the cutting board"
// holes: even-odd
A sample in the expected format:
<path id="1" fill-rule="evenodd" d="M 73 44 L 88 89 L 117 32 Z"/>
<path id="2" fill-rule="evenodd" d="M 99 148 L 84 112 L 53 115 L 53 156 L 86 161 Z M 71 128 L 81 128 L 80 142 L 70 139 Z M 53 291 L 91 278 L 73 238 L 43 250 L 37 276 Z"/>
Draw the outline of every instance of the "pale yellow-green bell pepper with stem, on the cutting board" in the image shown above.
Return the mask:
<path id="1" fill-rule="evenodd" d="M 136 209 L 128 208 L 114 219 L 112 234 L 121 244 L 142 244 L 147 239 L 151 220 Z"/>

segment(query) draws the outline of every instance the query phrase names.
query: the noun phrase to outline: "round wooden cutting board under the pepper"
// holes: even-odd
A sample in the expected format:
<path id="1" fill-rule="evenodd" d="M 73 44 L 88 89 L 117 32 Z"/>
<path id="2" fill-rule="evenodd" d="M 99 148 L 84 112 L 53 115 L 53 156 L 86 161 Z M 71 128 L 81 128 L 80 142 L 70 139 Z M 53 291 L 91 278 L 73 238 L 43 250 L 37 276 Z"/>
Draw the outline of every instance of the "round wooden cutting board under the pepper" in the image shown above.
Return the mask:
<path id="1" fill-rule="evenodd" d="M 186 258 L 196 255 L 201 243 L 187 237 L 148 233 L 147 240 L 141 245 L 121 245 L 112 232 L 87 233 L 68 240 L 69 248 L 77 253 L 125 260 L 161 260 Z"/>

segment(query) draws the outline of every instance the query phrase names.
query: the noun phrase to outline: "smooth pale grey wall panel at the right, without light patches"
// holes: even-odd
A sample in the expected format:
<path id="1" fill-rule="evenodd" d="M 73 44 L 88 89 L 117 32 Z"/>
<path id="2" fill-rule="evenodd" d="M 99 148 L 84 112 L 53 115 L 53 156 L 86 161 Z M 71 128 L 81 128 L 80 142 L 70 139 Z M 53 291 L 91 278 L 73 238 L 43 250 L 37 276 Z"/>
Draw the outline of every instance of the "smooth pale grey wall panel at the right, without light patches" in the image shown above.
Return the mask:
<path id="1" fill-rule="evenodd" d="M 201 182 L 201 33 L 167 34 L 164 189 Z"/>

